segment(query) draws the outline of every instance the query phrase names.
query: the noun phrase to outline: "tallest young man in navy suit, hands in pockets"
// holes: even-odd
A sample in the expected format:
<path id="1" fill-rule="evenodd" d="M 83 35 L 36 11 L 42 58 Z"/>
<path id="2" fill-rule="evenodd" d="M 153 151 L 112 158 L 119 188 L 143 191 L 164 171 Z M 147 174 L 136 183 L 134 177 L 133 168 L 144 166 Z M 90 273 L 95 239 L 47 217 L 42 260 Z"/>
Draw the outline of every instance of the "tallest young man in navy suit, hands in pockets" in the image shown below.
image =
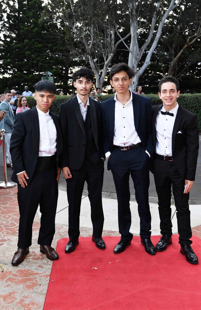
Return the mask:
<path id="1" fill-rule="evenodd" d="M 150 239 L 151 213 L 148 202 L 149 158 L 152 144 L 152 106 L 147 97 L 129 90 L 134 71 L 127 64 L 115 64 L 110 69 L 110 84 L 114 97 L 103 101 L 104 152 L 111 169 L 118 199 L 118 224 L 121 239 L 114 248 L 120 253 L 133 238 L 131 225 L 129 176 L 133 179 L 140 217 L 140 237 L 146 252 L 155 255 Z"/>

